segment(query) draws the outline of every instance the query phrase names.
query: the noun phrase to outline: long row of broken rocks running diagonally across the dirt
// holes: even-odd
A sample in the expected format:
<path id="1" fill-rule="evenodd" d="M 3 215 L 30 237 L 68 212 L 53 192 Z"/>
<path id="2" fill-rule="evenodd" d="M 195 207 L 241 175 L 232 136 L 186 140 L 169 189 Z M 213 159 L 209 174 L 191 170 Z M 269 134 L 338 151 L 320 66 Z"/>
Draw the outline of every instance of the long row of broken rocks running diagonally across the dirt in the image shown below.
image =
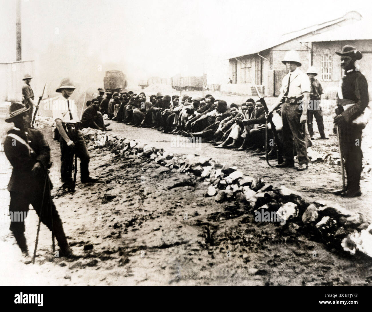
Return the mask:
<path id="1" fill-rule="evenodd" d="M 49 125 L 49 120 L 46 124 Z M 285 186 L 274 186 L 260 178 L 253 178 L 237 167 L 221 165 L 212 158 L 198 155 L 177 155 L 147 144 L 86 128 L 83 136 L 94 148 L 106 147 L 121 156 L 153 160 L 173 171 L 184 172 L 208 185 L 206 197 L 217 202 L 243 201 L 252 213 L 263 211 L 280 216 L 278 226 L 289 226 L 322 241 L 326 245 L 342 247 L 351 254 L 362 252 L 372 257 L 372 225 L 363 221 L 359 213 L 338 204 L 322 201 L 309 203 Z M 264 220 L 266 221 L 266 220 Z M 270 220 L 267 220 L 270 221 Z M 273 220 L 271 220 L 273 221 Z"/>

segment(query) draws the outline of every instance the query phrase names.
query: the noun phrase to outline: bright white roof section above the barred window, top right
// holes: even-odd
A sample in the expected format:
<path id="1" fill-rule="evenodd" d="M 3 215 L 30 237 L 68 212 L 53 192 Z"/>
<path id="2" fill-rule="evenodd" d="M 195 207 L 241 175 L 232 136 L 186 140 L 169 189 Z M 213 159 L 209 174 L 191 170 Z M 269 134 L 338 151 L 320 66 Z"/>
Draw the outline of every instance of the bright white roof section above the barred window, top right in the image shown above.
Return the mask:
<path id="1" fill-rule="evenodd" d="M 372 39 L 371 22 L 360 20 L 350 25 L 340 26 L 338 29 L 315 35 L 311 42 L 342 41 L 342 40 L 366 40 Z"/>

